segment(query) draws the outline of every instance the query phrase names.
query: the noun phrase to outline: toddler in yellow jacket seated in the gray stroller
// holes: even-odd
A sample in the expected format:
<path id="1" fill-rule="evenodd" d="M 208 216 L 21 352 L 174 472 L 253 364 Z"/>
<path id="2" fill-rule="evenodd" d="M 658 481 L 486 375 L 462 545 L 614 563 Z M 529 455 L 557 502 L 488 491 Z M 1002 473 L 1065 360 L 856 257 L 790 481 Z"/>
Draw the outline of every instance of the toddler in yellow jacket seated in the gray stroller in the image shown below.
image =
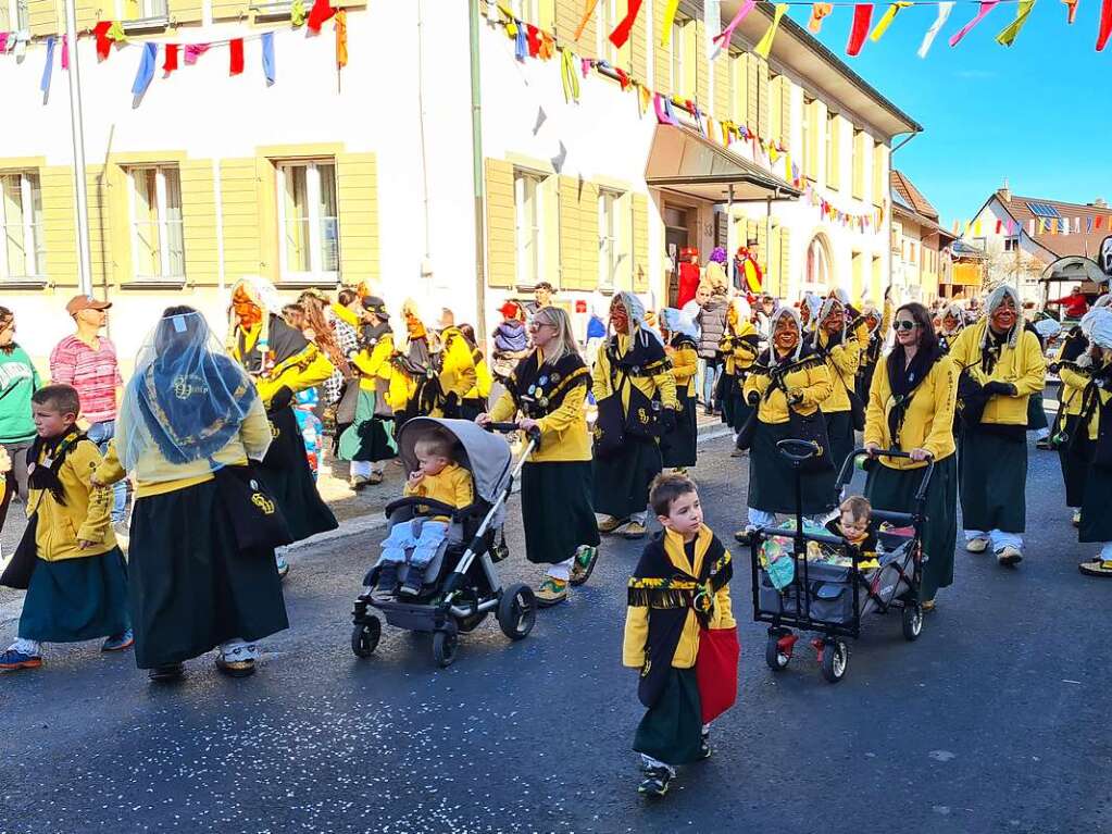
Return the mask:
<path id="1" fill-rule="evenodd" d="M 471 474 L 453 459 L 454 438 L 444 431 L 429 431 L 414 444 L 417 469 L 409 474 L 403 494 L 447 504 L 456 509 L 469 507 L 475 499 Z M 448 534 L 451 519 L 444 515 L 415 516 L 394 525 L 383 542 L 378 583 L 379 597 L 393 597 L 398 587 L 398 570 L 408 564 L 400 593 L 420 594 L 425 569 Z M 408 555 L 407 555 L 408 554 Z"/>

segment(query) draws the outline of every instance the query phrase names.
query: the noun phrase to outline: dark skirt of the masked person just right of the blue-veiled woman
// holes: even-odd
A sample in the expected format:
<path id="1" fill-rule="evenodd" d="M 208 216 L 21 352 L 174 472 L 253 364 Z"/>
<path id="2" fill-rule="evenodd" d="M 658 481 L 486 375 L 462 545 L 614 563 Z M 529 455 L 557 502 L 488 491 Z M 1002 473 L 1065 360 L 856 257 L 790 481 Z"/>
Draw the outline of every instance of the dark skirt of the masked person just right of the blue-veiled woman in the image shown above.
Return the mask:
<path id="1" fill-rule="evenodd" d="M 274 440 L 259 464 L 259 474 L 278 502 L 294 540 L 336 529 L 336 516 L 317 492 L 294 409 L 282 408 L 267 416 Z"/>

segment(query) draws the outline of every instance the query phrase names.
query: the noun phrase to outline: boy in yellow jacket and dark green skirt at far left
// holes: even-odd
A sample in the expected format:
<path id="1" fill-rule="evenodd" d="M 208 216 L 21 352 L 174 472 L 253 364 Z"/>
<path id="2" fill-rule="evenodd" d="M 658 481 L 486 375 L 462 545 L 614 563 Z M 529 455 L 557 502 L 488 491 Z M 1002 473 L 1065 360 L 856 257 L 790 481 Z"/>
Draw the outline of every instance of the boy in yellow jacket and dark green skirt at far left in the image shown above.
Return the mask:
<path id="1" fill-rule="evenodd" d="M 101 652 L 135 644 L 123 554 L 110 523 L 111 493 L 91 480 L 101 457 L 76 425 L 80 408 L 69 385 L 48 385 L 31 395 L 36 438 L 26 453 L 30 494 L 23 556 L 17 554 L 0 577 L 0 584 L 26 587 L 27 596 L 19 639 L 0 654 L 0 669 L 40 667 L 43 643 L 105 637 Z M 17 559 L 30 569 L 26 585 L 11 579 Z"/>

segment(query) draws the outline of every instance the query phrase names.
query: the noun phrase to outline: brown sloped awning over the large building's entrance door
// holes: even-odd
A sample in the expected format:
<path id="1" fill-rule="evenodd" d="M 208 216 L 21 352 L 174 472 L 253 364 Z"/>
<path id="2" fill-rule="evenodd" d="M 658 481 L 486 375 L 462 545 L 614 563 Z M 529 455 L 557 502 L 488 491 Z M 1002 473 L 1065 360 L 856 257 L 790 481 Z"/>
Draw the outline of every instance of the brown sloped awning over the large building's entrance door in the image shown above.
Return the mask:
<path id="1" fill-rule="evenodd" d="M 645 166 L 645 182 L 654 188 L 712 202 L 794 199 L 802 192 L 747 159 L 715 145 L 701 133 L 675 125 L 658 125 Z"/>

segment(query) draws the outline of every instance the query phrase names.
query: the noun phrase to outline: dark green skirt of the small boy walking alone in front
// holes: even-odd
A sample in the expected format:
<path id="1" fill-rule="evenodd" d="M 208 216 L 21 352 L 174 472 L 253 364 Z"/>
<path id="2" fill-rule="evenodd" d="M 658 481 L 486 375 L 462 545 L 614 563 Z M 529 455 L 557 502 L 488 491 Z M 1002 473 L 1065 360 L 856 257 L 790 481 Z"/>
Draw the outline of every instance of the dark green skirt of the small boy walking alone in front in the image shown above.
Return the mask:
<path id="1" fill-rule="evenodd" d="M 672 668 L 656 704 L 637 725 L 633 748 L 669 765 L 702 758 L 703 704 L 695 669 Z"/>

